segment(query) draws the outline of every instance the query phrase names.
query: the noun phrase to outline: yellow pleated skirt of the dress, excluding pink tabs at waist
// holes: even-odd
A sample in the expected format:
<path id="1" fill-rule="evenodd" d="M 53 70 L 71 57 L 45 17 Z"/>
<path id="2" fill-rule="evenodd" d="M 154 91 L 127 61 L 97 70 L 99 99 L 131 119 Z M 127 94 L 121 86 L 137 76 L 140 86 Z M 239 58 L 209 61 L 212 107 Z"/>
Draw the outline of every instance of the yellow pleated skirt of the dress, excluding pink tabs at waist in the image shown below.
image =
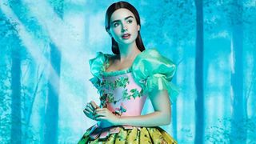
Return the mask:
<path id="1" fill-rule="evenodd" d="M 173 144 L 178 143 L 167 134 L 165 130 L 160 127 L 133 127 L 132 129 L 126 129 L 123 126 L 118 126 L 118 133 L 107 133 L 107 135 L 97 138 L 92 138 L 91 128 L 86 130 L 78 144 L 83 143 L 102 143 L 102 144 L 137 144 L 137 143 L 159 143 L 159 144 Z M 109 131 L 108 131 L 109 132 Z"/>

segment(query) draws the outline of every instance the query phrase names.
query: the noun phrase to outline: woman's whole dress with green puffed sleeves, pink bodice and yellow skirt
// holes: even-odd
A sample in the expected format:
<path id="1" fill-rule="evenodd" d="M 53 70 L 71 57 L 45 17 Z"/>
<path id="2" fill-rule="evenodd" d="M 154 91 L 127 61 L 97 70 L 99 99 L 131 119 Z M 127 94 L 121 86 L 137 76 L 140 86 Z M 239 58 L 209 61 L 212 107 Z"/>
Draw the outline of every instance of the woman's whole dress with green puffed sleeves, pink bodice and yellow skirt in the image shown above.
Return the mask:
<path id="1" fill-rule="evenodd" d="M 141 115 L 146 98 L 152 90 L 167 90 L 175 102 L 178 88 L 170 81 L 176 66 L 158 50 L 144 50 L 125 70 L 106 72 L 113 55 L 98 52 L 90 60 L 90 82 L 100 95 L 100 107 L 122 116 Z M 177 143 L 159 126 L 107 126 L 97 122 L 86 130 L 78 143 Z"/>

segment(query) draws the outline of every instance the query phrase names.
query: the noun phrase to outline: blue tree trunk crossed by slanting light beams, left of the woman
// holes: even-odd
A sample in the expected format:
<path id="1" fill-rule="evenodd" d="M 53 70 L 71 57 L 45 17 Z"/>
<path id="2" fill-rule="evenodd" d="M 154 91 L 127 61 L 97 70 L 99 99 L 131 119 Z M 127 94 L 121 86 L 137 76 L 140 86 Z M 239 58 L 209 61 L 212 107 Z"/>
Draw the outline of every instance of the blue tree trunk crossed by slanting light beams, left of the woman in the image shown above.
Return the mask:
<path id="1" fill-rule="evenodd" d="M 50 0 L 54 11 L 63 18 L 63 0 Z M 56 27 L 57 28 L 57 27 Z M 50 42 L 50 69 L 48 95 L 46 98 L 46 114 L 44 125 L 44 143 L 58 143 L 58 97 L 61 71 L 61 51 L 54 42 Z"/>

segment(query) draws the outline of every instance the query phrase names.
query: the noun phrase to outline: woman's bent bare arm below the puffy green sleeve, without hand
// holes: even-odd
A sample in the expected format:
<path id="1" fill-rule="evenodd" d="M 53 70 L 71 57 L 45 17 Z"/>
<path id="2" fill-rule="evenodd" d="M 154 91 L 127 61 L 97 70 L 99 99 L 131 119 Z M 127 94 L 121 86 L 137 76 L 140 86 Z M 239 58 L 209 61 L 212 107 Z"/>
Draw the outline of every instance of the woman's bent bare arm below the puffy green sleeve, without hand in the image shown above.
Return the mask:
<path id="1" fill-rule="evenodd" d="M 162 126 L 170 124 L 170 99 L 167 90 L 158 90 L 150 94 L 154 112 L 141 116 L 123 116 L 117 125 Z"/>

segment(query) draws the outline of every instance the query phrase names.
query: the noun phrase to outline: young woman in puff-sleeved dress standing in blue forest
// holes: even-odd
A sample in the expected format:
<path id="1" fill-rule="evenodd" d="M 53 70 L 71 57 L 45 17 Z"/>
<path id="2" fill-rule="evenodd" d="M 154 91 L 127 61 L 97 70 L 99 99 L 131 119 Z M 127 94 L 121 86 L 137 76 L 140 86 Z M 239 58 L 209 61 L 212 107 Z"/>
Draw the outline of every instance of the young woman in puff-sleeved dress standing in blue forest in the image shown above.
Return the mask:
<path id="1" fill-rule="evenodd" d="M 169 125 L 170 103 L 177 90 L 170 85 L 175 65 L 157 50 L 145 50 L 138 11 L 128 2 L 106 10 L 106 31 L 114 54 L 98 52 L 90 60 L 100 105 L 89 102 L 84 113 L 98 121 L 78 143 L 177 143 L 159 126 Z M 141 115 L 150 98 L 154 112 Z"/>

